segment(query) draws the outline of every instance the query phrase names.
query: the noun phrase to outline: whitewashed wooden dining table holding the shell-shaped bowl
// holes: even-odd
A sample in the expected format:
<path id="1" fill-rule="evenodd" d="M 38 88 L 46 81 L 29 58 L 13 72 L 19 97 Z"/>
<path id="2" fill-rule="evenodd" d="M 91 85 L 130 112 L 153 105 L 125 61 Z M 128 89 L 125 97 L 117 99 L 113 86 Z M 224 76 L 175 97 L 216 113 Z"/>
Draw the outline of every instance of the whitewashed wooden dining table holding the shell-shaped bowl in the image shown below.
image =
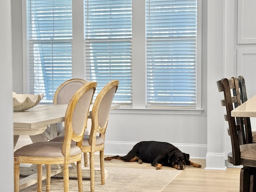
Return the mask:
<path id="1" fill-rule="evenodd" d="M 48 141 L 49 139 L 58 136 L 58 126 L 62 126 L 65 120 L 67 104 L 58 105 L 37 105 L 33 108 L 24 111 L 13 112 L 13 132 L 14 132 L 14 148 L 20 135 L 30 136 L 32 142 Z M 120 105 L 112 104 L 110 110 L 119 108 Z M 92 105 L 90 106 L 88 118 L 91 118 Z M 50 128 L 50 134 L 46 132 Z M 71 164 L 73 169 L 70 169 L 70 177 L 76 176 L 75 164 Z M 34 165 L 32 165 L 34 166 Z M 20 179 L 20 189 L 35 184 L 37 182 L 37 174 L 34 171 L 36 168 L 25 167 L 20 168 L 20 173 L 24 173 L 26 177 Z M 82 169 L 83 177 L 90 178 L 90 168 Z M 62 174 L 60 165 L 52 165 L 51 176 Z M 46 172 L 43 171 L 42 179 L 46 178 Z M 105 178 L 108 178 L 108 172 L 105 170 Z M 95 180 L 100 180 L 100 168 L 95 168 Z"/>

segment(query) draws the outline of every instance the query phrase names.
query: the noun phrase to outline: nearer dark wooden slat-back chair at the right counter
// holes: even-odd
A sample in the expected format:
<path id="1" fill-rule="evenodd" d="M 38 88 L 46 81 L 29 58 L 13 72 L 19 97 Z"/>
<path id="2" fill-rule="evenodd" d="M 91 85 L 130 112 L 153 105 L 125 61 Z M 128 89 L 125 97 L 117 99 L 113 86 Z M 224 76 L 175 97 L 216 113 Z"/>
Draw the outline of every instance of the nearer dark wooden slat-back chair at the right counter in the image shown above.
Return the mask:
<path id="1" fill-rule="evenodd" d="M 217 87 L 219 92 L 224 93 L 221 104 L 226 108 L 224 119 L 228 121 L 231 138 L 232 152 L 228 153 L 228 162 L 243 166 L 240 171 L 240 192 L 256 191 L 256 185 L 252 181 L 256 175 L 256 143 L 246 143 L 244 132 L 251 134 L 250 126 L 246 123 L 247 118 L 231 116 L 231 111 L 241 102 L 238 78 L 222 78 L 217 82 Z"/>

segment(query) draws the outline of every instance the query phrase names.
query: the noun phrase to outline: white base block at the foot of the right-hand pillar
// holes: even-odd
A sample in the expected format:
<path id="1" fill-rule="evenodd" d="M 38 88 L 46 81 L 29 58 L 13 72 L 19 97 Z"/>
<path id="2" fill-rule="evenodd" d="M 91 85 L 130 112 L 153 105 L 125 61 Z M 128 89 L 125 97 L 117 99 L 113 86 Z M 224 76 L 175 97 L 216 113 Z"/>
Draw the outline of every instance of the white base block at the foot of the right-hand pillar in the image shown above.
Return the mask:
<path id="1" fill-rule="evenodd" d="M 224 153 L 207 153 L 205 169 L 226 170 L 227 166 Z"/>

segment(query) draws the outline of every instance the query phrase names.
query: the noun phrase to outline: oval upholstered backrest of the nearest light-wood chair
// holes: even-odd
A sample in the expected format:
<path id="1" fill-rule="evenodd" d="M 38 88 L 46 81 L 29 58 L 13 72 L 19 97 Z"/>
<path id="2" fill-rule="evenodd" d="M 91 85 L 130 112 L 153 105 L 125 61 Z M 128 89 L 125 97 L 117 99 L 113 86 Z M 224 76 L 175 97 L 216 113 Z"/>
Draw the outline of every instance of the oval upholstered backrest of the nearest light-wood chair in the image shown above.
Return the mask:
<path id="1" fill-rule="evenodd" d="M 68 103 L 65 114 L 65 136 L 62 152 L 69 156 L 71 141 L 80 142 L 87 126 L 88 112 L 96 90 L 96 82 L 88 82 L 79 88 Z"/>

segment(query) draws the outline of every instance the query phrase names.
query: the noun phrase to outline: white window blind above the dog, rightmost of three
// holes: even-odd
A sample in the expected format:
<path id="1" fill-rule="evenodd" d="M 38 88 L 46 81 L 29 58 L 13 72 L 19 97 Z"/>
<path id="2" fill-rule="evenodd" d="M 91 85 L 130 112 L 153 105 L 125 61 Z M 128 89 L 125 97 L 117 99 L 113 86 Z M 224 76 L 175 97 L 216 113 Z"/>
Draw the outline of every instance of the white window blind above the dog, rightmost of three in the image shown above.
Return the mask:
<path id="1" fill-rule="evenodd" d="M 147 106 L 196 108 L 196 0 L 146 0 Z"/>

